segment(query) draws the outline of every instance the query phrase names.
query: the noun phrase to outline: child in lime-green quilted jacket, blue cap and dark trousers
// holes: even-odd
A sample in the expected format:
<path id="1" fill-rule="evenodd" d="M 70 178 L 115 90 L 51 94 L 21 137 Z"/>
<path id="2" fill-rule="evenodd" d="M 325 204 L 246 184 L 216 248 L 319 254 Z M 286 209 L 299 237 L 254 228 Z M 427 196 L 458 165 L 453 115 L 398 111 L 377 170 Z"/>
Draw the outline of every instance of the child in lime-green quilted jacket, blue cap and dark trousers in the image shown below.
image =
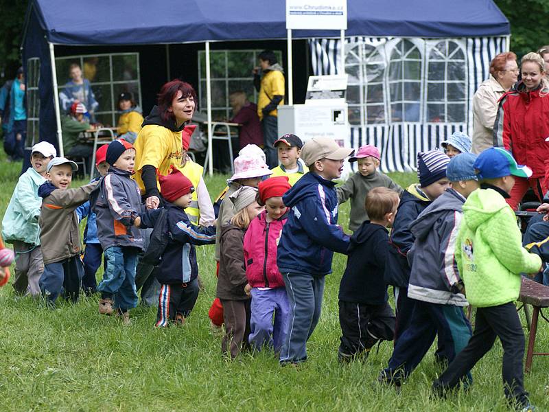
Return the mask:
<path id="1" fill-rule="evenodd" d="M 533 410 L 524 390 L 524 331 L 514 302 L 519 297 L 520 273 L 539 272 L 541 259 L 522 247 L 517 219 L 505 202 L 515 184 L 514 176 L 528 179 L 532 171 L 517 165 L 502 148 L 484 150 L 474 168 L 480 190 L 471 193 L 463 205 L 455 253 L 467 300 L 477 308 L 475 330 L 467 346 L 434 381 L 433 389 L 443 394 L 458 386 L 497 336 L 503 347 L 505 396 L 512 407 Z"/>

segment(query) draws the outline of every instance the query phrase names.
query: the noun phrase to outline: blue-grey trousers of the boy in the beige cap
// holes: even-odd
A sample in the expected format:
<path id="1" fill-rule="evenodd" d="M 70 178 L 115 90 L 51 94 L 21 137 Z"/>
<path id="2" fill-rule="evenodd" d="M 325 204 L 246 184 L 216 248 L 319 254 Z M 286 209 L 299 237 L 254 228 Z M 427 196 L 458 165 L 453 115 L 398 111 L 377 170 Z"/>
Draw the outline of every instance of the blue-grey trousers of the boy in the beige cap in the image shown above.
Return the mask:
<path id="1" fill-rule="evenodd" d="M 320 319 L 325 277 L 283 273 L 283 278 L 290 304 L 290 319 L 280 352 L 280 363 L 299 363 L 307 359 L 307 341 Z"/>

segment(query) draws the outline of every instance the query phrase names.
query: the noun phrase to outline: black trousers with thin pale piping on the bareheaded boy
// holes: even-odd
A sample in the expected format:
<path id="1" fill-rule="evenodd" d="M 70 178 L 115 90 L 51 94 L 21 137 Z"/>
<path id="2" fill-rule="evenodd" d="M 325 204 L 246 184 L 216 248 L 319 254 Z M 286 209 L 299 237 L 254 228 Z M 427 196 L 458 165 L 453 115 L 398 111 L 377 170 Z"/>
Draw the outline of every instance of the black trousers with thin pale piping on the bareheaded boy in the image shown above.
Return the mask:
<path id="1" fill-rule="evenodd" d="M 346 356 L 370 350 L 380 340 L 392 341 L 395 335 L 395 314 L 387 302 L 366 305 L 339 301 L 339 324 L 339 352 Z"/>

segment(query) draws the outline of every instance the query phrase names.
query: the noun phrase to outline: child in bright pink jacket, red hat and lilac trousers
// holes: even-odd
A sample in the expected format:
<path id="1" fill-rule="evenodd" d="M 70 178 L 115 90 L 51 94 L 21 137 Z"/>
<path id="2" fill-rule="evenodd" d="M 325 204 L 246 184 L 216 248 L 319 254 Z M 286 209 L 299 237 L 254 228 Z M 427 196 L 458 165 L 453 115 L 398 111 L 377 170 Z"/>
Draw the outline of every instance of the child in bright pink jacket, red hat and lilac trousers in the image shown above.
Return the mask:
<path id="1" fill-rule="evenodd" d="M 279 353 L 286 334 L 290 308 L 277 266 L 277 246 L 287 219 L 282 195 L 290 187 L 288 176 L 271 177 L 259 183 L 257 203 L 265 206 L 265 210 L 252 220 L 244 236 L 246 288 L 252 295 L 249 341 L 258 351 L 266 345 Z"/>

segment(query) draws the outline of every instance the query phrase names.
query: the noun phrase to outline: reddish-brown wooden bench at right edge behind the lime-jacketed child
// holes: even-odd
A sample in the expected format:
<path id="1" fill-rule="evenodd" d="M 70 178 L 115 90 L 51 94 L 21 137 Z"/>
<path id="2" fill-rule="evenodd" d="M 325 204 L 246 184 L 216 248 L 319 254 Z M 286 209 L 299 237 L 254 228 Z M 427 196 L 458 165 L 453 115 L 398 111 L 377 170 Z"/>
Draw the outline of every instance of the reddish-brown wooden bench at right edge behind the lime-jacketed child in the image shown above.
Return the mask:
<path id="1" fill-rule="evenodd" d="M 549 355 L 547 353 L 534 352 L 534 344 L 536 341 L 537 319 L 539 315 L 549 322 L 549 319 L 541 311 L 542 308 L 549 308 L 549 287 L 534 282 L 531 279 L 522 277 L 520 286 L 519 302 L 524 305 L 532 305 L 534 310 L 530 331 L 528 332 L 528 351 L 526 352 L 526 372 L 532 368 L 532 358 L 534 355 Z M 526 311 L 526 306 L 524 306 Z M 528 312 L 526 312 L 528 314 Z"/>

